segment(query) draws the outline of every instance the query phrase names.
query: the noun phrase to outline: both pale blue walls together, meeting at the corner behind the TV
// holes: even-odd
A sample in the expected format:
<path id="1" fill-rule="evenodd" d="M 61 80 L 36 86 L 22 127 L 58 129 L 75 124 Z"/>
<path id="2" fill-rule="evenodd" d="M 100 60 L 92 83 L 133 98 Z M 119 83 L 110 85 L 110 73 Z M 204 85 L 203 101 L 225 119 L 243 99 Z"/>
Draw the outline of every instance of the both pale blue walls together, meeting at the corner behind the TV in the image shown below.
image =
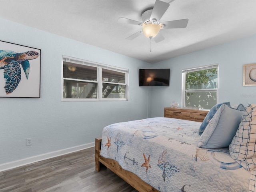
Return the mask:
<path id="1" fill-rule="evenodd" d="M 242 79 L 243 65 L 256 63 L 256 36 L 148 64 L 7 20 L 0 25 L 0 40 L 41 49 L 41 98 L 0 98 L 0 164 L 94 142 L 108 124 L 164 116 L 171 102 L 181 104 L 184 68 L 218 63 L 219 102 L 255 103 L 256 86 L 243 87 Z M 128 68 L 129 100 L 60 102 L 62 55 Z M 170 87 L 139 87 L 139 68 L 170 68 Z"/>

